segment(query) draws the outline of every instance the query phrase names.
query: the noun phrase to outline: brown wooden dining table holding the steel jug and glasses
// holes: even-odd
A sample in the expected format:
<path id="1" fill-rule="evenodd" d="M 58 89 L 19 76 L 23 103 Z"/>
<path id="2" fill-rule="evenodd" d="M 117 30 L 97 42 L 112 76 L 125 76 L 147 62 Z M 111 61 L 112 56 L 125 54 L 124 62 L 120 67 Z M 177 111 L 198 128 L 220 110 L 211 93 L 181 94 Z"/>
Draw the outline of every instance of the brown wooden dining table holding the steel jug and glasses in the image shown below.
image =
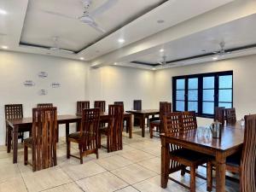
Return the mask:
<path id="1" fill-rule="evenodd" d="M 211 155 L 216 164 L 216 191 L 225 191 L 226 158 L 240 151 L 243 144 L 244 128 L 240 122 L 236 125 L 225 125 L 221 138 L 212 138 L 207 134 L 207 127 L 198 127 L 196 130 L 165 134 L 161 133 L 161 187 L 166 188 L 168 182 L 168 169 L 170 167 L 169 144 Z"/>

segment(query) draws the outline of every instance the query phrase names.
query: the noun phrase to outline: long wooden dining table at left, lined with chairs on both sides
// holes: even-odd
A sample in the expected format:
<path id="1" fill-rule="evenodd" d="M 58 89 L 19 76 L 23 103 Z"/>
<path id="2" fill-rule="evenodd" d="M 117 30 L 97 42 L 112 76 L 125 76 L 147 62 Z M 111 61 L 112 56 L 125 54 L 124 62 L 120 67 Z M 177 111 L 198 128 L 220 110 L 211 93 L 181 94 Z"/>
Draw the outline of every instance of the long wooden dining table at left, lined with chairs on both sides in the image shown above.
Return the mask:
<path id="1" fill-rule="evenodd" d="M 57 116 L 58 129 L 59 125 L 66 125 L 66 139 L 69 134 L 69 124 L 77 123 L 80 124 L 82 117 L 80 115 L 64 114 Z M 101 113 L 100 121 L 108 121 L 108 113 Z M 126 119 L 126 126 L 128 127 L 129 137 L 132 137 L 132 114 L 124 113 L 124 119 Z M 28 126 L 32 127 L 32 118 L 21 118 L 21 119 L 6 119 L 6 124 L 8 125 L 8 134 L 12 134 L 12 144 L 13 144 L 13 163 L 17 163 L 18 157 L 18 132 L 23 128 Z M 10 153 L 11 141 L 8 140 L 7 143 L 7 153 Z"/>

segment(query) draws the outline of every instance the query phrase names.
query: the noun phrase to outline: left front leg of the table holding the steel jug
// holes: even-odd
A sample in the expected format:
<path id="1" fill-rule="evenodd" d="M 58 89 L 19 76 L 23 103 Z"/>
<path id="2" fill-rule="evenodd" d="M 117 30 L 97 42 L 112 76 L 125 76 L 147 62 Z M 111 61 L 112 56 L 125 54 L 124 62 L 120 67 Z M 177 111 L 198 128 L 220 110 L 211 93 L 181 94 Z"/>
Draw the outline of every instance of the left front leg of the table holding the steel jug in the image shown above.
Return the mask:
<path id="1" fill-rule="evenodd" d="M 165 189 L 168 183 L 170 160 L 168 158 L 168 143 L 165 138 L 161 138 L 161 143 L 161 187 Z"/>

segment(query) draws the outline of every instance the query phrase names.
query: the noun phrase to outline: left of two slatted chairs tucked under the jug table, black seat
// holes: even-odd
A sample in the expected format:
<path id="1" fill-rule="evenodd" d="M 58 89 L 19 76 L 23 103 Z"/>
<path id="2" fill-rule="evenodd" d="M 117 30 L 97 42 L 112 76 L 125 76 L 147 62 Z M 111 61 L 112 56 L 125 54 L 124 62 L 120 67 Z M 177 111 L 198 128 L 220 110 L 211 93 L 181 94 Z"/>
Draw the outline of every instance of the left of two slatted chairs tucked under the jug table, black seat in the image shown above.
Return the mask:
<path id="1" fill-rule="evenodd" d="M 185 131 L 183 128 L 183 113 L 165 113 L 162 117 L 163 127 L 166 134 Z M 194 123 L 195 125 L 196 123 Z M 190 126 L 189 126 L 190 127 Z M 188 130 L 187 130 L 188 131 Z M 170 144 L 169 147 L 169 159 L 170 159 L 170 168 L 166 170 L 164 174 L 171 174 L 173 172 L 182 171 L 182 175 L 185 173 L 185 167 L 190 167 L 190 187 L 178 182 L 176 179 L 169 177 L 173 182 L 182 185 L 186 189 L 190 189 L 191 192 L 195 192 L 195 169 L 197 166 L 201 166 L 207 163 L 207 155 L 201 154 L 186 148 L 181 148 L 175 144 Z"/>

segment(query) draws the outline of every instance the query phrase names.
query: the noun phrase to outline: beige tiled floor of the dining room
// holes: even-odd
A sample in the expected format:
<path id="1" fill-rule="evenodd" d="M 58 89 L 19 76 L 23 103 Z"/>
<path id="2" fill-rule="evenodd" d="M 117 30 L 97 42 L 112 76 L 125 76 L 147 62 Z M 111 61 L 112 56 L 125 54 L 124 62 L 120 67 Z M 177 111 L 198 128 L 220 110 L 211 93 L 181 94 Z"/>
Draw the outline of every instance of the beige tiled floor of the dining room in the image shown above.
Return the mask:
<path id="1" fill-rule="evenodd" d="M 129 139 L 124 132 L 124 149 L 107 153 L 100 149 L 96 155 L 84 157 L 84 164 L 79 160 L 66 158 L 65 138 L 58 143 L 58 166 L 40 172 L 32 172 L 31 166 L 23 165 L 22 146 L 19 149 L 18 164 L 12 164 L 12 155 L 6 153 L 5 146 L 0 146 L 0 192 L 23 191 L 90 191 L 90 192 L 136 192 L 136 191 L 188 191 L 177 183 L 168 182 L 167 189 L 160 188 L 160 139 L 140 136 L 135 129 L 133 138 Z M 104 143 L 104 141 L 102 141 Z M 72 145 L 72 153 L 78 153 Z M 205 168 L 198 172 L 205 174 Z M 179 172 L 172 174 L 181 182 L 189 184 L 189 174 L 184 177 Z M 206 181 L 196 179 L 197 191 L 206 191 Z M 227 182 L 227 191 L 239 191 L 237 183 Z"/>

